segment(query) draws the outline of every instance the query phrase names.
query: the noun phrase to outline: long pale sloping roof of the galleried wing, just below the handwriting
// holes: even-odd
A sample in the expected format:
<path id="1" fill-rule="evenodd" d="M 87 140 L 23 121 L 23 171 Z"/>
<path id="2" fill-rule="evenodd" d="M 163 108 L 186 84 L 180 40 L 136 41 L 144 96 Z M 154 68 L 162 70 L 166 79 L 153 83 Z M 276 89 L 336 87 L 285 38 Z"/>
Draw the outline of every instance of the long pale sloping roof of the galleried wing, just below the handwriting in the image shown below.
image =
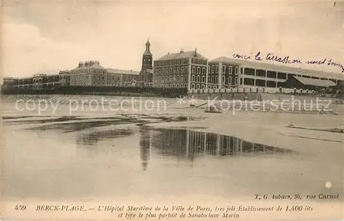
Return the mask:
<path id="1" fill-rule="evenodd" d="M 262 69 L 277 70 L 279 72 L 294 72 L 294 73 L 300 73 L 300 74 L 308 74 L 308 75 L 312 75 L 312 76 L 336 78 L 336 79 L 344 80 L 344 74 L 336 74 L 333 72 L 321 72 L 321 71 L 316 71 L 316 70 L 290 67 L 290 66 L 285 66 L 285 65 L 273 65 L 273 64 L 261 63 L 261 62 L 257 62 L 257 61 L 229 59 L 225 56 L 220 56 L 217 59 L 209 61 L 209 63 L 212 63 L 212 62 L 214 62 L 214 63 L 215 62 L 233 63 L 233 64 L 237 64 L 237 65 L 247 65 L 247 66 L 252 66 L 252 67 L 259 67 Z"/>

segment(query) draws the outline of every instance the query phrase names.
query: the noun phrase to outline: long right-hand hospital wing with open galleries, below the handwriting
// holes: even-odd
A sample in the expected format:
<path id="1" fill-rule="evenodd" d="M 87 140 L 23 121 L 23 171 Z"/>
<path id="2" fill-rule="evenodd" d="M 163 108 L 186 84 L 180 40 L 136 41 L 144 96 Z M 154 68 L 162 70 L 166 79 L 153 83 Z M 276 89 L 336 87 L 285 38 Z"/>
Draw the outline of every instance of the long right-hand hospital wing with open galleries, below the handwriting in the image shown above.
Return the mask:
<path id="1" fill-rule="evenodd" d="M 221 71 L 220 71 L 221 70 Z M 263 87 L 321 89 L 344 83 L 343 74 L 272 65 L 224 56 L 209 61 L 209 88 Z"/>

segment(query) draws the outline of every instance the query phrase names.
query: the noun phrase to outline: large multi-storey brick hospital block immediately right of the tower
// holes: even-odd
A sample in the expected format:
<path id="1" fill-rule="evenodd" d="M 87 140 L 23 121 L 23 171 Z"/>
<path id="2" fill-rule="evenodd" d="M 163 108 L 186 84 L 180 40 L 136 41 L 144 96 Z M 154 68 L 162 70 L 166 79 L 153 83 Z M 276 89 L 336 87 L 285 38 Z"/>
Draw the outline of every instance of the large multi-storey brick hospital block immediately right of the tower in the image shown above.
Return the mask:
<path id="1" fill-rule="evenodd" d="M 154 87 L 205 89 L 208 59 L 195 51 L 168 53 L 154 61 Z"/>

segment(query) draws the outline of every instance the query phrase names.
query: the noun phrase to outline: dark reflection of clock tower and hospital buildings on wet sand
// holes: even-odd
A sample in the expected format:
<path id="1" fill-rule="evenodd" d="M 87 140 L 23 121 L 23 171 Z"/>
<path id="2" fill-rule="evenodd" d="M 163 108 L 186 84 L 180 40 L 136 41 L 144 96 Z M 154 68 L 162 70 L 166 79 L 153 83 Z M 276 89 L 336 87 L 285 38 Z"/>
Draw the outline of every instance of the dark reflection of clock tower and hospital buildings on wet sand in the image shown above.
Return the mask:
<path id="1" fill-rule="evenodd" d="M 140 127 L 140 157 L 144 170 L 147 169 L 151 151 L 191 161 L 204 156 L 258 156 L 292 152 L 290 149 L 250 143 L 233 136 L 189 129 Z"/>

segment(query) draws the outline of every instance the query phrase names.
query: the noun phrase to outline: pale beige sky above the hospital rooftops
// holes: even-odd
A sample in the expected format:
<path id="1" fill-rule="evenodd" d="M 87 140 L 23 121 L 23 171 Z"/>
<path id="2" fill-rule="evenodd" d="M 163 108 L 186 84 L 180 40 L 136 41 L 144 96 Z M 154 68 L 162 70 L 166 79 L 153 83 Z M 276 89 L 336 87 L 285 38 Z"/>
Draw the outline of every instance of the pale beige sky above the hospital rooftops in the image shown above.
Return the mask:
<path id="1" fill-rule="evenodd" d="M 57 74 L 90 59 L 140 70 L 147 38 L 153 59 L 197 48 L 210 60 L 260 51 L 344 63 L 343 0 L 5 0 L 2 9 L 3 76 Z M 341 73 L 328 65 L 294 67 Z"/>

